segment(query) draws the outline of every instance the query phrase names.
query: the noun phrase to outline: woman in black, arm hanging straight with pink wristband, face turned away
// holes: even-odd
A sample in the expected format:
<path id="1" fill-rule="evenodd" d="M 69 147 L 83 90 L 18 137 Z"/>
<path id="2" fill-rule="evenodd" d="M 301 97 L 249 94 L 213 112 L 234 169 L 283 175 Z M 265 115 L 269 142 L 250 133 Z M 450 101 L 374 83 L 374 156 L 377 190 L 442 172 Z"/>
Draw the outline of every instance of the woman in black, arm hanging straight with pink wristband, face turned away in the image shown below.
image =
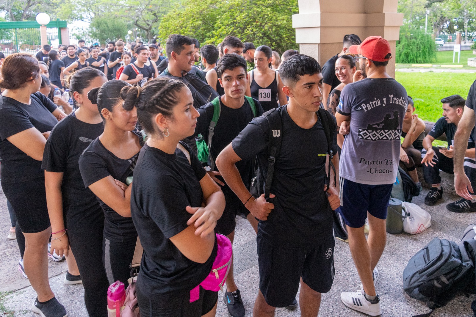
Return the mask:
<path id="1" fill-rule="evenodd" d="M 104 124 L 98 107 L 88 99 L 91 89 L 107 81 L 99 69 L 86 67 L 66 78 L 66 86 L 77 109 L 51 131 L 43 164 L 48 213 L 51 221 L 51 253 L 74 253 L 84 286 L 89 316 L 106 317 L 108 278 L 102 262 L 104 214 L 95 195 L 84 188 L 79 156 L 101 135 Z"/>

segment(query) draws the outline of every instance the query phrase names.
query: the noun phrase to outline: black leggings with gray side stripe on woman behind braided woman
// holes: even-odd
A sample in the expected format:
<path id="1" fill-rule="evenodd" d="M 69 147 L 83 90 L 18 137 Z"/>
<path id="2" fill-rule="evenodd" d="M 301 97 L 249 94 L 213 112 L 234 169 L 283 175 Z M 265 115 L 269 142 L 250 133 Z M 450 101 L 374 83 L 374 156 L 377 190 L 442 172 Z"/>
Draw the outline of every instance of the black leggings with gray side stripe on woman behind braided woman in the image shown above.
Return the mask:
<path id="1" fill-rule="evenodd" d="M 131 238 L 130 242 L 115 242 L 104 238 L 102 244 L 102 263 L 106 270 L 109 284 L 119 280 L 127 287 L 127 280 L 130 277 L 130 263 L 134 256 L 136 248 L 135 238 Z"/>

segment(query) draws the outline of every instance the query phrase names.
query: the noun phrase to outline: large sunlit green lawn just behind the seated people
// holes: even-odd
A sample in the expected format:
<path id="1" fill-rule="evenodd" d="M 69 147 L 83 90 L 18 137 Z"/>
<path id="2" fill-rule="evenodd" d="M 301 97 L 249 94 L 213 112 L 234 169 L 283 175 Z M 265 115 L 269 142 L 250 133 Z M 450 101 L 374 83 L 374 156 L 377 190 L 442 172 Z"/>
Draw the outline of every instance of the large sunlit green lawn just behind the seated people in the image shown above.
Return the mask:
<path id="1" fill-rule="evenodd" d="M 396 79 L 407 89 L 417 107 L 418 116 L 436 122 L 442 116 L 442 98 L 458 94 L 465 98 L 476 73 L 396 72 Z"/>

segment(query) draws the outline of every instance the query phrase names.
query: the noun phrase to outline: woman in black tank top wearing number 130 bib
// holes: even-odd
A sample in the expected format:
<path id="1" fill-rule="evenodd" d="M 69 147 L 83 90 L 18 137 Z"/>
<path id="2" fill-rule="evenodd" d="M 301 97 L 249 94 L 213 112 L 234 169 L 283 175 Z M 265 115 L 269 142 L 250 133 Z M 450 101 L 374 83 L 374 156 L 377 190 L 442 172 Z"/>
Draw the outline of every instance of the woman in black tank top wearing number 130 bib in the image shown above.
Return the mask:
<path id="1" fill-rule="evenodd" d="M 269 46 L 261 45 L 255 50 L 256 69 L 250 70 L 248 76 L 247 96 L 258 99 L 263 110 L 269 111 L 288 103 L 283 92 L 283 83 L 279 73 L 271 68 L 273 51 Z"/>

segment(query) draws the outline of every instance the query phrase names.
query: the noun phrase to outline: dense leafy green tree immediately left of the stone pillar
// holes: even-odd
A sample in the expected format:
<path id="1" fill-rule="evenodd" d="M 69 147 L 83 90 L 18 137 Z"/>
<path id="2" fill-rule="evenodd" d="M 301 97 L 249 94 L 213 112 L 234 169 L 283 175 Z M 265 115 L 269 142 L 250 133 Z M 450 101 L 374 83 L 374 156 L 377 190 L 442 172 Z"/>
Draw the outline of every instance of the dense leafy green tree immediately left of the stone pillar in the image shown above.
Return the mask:
<path id="1" fill-rule="evenodd" d="M 204 0 L 178 4 L 163 18 L 159 37 L 179 33 L 202 44 L 215 44 L 227 35 L 237 36 L 255 46 L 268 45 L 279 53 L 297 49 L 292 15 L 297 0 Z"/>

